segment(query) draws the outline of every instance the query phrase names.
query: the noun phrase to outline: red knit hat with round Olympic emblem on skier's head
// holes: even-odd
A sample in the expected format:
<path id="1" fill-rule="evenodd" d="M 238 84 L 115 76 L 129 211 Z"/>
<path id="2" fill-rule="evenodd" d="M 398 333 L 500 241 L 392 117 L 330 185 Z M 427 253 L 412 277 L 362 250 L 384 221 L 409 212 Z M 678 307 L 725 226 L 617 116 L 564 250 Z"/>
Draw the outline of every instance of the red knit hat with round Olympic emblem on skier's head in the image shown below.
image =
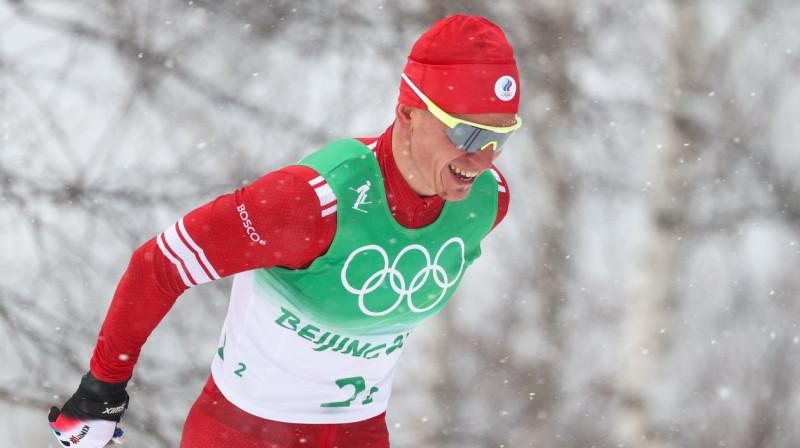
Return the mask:
<path id="1" fill-rule="evenodd" d="M 411 48 L 403 72 L 434 104 L 452 114 L 517 113 L 519 73 L 503 30 L 483 17 L 441 19 Z M 425 104 L 405 81 L 399 102 Z"/>

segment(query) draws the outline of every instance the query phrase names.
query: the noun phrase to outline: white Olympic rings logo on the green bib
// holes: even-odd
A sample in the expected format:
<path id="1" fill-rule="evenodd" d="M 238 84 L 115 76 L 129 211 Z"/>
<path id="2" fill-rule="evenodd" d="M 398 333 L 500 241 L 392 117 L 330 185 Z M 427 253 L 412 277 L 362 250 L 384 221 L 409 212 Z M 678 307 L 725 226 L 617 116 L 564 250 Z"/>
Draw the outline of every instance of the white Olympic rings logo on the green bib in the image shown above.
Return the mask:
<path id="1" fill-rule="evenodd" d="M 444 250 L 448 246 L 454 244 L 461 248 L 461 265 L 458 268 L 458 273 L 456 273 L 456 275 L 450 279 L 447 271 L 445 271 L 445 269 L 439 265 L 439 258 L 442 256 Z M 347 281 L 347 270 L 350 268 L 350 263 L 353 261 L 353 258 L 355 258 L 356 255 L 362 252 L 370 251 L 375 251 L 380 255 L 380 257 L 383 259 L 383 267 L 370 275 L 364 281 L 364 284 L 362 284 L 361 287 L 356 288 Z M 397 265 L 406 254 L 411 252 L 419 252 L 424 256 L 425 267 L 414 274 L 409 282 L 403 273 L 397 269 Z M 436 252 L 436 256 L 433 258 L 433 262 L 431 262 L 431 255 L 428 253 L 425 247 L 420 246 L 419 244 L 412 244 L 401 250 L 390 266 L 389 256 L 382 247 L 375 244 L 362 246 L 354 250 L 353 253 L 347 257 L 347 261 L 345 261 L 344 267 L 342 268 L 342 285 L 349 292 L 358 295 L 358 306 L 361 308 L 361 311 L 368 316 L 384 316 L 389 314 L 398 306 L 400 306 L 401 303 L 403 303 L 403 299 L 406 299 L 408 307 L 411 309 L 411 311 L 415 313 L 423 313 L 441 302 L 447 293 L 447 290 L 458 282 L 458 279 L 461 277 L 461 273 L 464 271 L 464 254 L 464 241 L 461 238 L 453 237 L 447 240 L 442 247 L 439 248 L 439 251 Z M 420 308 L 414 304 L 413 294 L 422 289 L 422 287 L 428 281 L 428 278 L 431 277 L 431 274 L 433 274 L 433 281 L 436 283 L 436 285 L 442 288 L 442 293 L 433 303 L 424 308 Z M 382 311 L 367 308 L 367 306 L 364 304 L 364 296 L 378 289 L 383 284 L 384 280 L 386 280 L 387 276 L 389 277 L 389 284 L 391 285 L 392 290 L 399 294 L 397 300 L 392 306 Z"/>

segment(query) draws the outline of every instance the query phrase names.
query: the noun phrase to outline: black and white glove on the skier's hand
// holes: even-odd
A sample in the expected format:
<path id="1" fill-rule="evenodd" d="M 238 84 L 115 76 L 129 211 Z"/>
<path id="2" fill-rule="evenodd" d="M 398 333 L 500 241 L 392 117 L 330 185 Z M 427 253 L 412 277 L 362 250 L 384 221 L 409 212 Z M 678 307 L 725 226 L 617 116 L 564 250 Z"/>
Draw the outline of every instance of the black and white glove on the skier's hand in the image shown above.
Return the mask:
<path id="1" fill-rule="evenodd" d="M 66 447 L 102 448 L 109 441 L 124 443 L 117 423 L 128 408 L 127 381 L 107 383 L 91 372 L 77 392 L 59 410 L 53 406 L 47 419 L 56 438 Z"/>

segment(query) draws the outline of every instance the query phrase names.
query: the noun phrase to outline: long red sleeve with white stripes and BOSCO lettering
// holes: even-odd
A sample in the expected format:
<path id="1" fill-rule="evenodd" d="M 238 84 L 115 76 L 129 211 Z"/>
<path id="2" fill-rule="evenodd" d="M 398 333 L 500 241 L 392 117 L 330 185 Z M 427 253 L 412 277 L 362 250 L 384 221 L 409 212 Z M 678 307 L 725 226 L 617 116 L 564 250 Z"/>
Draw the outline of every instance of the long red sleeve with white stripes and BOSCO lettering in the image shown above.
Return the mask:
<path id="1" fill-rule="evenodd" d="M 316 180 L 315 180 L 316 179 Z M 130 378 L 142 345 L 191 286 L 255 268 L 302 268 L 336 233 L 324 181 L 291 166 L 190 212 L 131 257 L 91 361 L 100 380 Z"/>

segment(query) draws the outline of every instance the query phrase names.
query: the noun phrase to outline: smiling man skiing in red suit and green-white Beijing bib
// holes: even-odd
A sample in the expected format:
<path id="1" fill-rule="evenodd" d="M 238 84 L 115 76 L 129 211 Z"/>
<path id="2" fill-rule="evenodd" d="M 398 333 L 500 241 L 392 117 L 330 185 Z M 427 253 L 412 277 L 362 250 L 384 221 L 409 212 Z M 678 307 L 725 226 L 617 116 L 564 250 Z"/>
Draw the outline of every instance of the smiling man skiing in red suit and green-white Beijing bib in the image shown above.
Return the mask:
<path id="1" fill-rule="evenodd" d="M 503 32 L 436 22 L 401 75 L 395 121 L 221 196 L 140 247 L 90 371 L 51 427 L 64 446 L 122 440 L 125 386 L 187 288 L 235 274 L 211 376 L 181 447 L 387 447 L 391 381 L 505 216 L 493 168 L 521 125 Z"/>

